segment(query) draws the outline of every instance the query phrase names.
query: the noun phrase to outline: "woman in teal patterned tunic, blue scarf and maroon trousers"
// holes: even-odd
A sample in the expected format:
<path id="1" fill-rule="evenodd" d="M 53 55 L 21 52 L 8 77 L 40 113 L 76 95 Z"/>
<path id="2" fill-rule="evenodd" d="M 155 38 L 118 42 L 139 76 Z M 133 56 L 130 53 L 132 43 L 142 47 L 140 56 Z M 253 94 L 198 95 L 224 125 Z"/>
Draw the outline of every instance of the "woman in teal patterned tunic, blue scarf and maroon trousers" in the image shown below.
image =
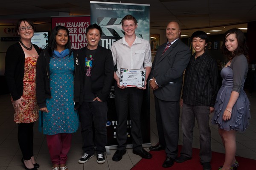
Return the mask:
<path id="1" fill-rule="evenodd" d="M 71 134 L 79 127 L 75 102 L 79 102 L 80 68 L 76 58 L 67 28 L 53 28 L 47 48 L 38 57 L 36 74 L 38 107 L 52 170 L 67 170 Z"/>

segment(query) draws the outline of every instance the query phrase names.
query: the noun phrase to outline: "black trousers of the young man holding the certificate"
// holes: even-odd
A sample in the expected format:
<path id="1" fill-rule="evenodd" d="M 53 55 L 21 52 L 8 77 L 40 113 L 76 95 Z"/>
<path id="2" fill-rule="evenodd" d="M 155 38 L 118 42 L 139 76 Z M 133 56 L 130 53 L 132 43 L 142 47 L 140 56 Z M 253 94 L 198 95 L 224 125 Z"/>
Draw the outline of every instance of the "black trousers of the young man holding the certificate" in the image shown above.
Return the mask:
<path id="1" fill-rule="evenodd" d="M 128 110 L 131 118 L 131 136 L 134 150 L 142 149 L 143 137 L 140 128 L 140 113 L 143 101 L 143 90 L 137 88 L 115 88 L 117 113 L 116 140 L 117 149 L 124 150 L 127 140 Z"/>

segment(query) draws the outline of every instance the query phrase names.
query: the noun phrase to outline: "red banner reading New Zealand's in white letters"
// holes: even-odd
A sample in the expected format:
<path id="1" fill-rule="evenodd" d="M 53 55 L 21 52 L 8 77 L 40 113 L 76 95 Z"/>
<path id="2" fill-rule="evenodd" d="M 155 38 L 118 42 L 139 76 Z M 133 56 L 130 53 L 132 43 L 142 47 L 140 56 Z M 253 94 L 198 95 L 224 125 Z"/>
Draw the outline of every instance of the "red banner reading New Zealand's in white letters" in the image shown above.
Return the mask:
<path id="1" fill-rule="evenodd" d="M 89 16 L 52 17 L 52 28 L 64 26 L 68 29 L 72 49 L 83 48 L 87 45 L 85 31 L 89 25 Z"/>

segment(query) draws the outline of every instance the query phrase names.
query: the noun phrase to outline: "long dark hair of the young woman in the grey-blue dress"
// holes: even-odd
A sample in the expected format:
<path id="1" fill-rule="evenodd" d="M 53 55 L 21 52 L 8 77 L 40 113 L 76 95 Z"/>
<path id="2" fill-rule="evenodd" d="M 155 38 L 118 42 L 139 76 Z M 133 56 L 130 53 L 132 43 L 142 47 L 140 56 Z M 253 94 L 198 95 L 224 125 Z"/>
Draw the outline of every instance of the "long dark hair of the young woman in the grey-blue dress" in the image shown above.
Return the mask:
<path id="1" fill-rule="evenodd" d="M 223 54 L 225 54 L 228 59 L 233 59 L 237 55 L 244 54 L 244 56 L 248 60 L 249 59 L 248 46 L 246 44 L 244 33 L 238 28 L 232 28 L 224 34 L 224 37 L 223 37 L 224 42 L 226 42 L 225 40 L 226 40 L 227 36 L 229 36 L 230 34 L 236 35 L 238 46 L 232 54 L 232 52 L 227 50 L 226 45 L 225 45 L 226 43 L 223 43 L 223 46 L 222 46 Z"/>

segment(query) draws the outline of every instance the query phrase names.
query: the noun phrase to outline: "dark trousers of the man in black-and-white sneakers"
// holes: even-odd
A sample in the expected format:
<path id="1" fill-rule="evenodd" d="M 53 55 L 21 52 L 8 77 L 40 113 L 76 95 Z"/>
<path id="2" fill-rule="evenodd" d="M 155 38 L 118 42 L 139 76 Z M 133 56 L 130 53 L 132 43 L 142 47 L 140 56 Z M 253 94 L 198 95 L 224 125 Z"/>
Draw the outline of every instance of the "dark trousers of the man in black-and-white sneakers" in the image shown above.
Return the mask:
<path id="1" fill-rule="evenodd" d="M 107 102 L 83 102 L 79 108 L 81 134 L 83 138 L 83 152 L 89 155 L 104 153 L 107 144 Z M 93 142 L 93 125 L 95 128 L 95 139 Z"/>

